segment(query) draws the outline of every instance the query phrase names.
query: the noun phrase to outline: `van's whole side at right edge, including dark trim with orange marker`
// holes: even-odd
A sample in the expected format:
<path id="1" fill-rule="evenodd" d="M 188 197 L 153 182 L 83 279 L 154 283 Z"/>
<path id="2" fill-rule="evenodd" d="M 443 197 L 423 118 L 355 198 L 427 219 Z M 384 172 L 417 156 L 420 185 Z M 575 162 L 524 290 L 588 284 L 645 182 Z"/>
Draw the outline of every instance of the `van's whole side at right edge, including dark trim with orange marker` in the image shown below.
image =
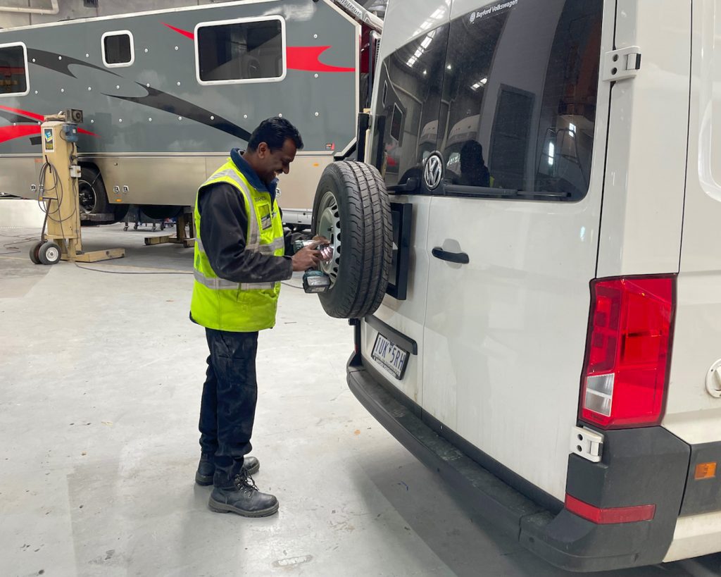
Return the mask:
<path id="1" fill-rule="evenodd" d="M 721 466 L 720 9 L 719 0 L 694 0 L 691 14 L 686 194 L 671 372 L 662 421 L 691 446 L 691 459 L 665 560 L 715 552 L 721 538 L 721 471 L 717 468 Z"/>

